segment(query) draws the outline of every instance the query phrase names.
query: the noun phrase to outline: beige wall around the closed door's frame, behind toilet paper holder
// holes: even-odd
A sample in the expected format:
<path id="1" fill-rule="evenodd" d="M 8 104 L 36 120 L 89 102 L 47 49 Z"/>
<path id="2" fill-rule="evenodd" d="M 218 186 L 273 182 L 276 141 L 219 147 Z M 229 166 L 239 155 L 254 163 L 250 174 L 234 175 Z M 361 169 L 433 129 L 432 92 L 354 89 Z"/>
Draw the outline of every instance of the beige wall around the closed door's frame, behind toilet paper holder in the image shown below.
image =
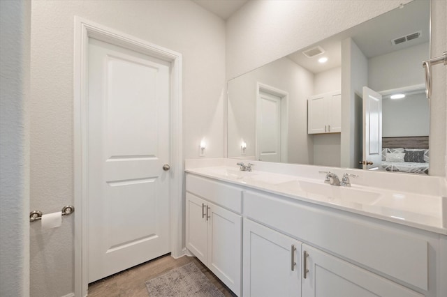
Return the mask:
<path id="1" fill-rule="evenodd" d="M 223 156 L 225 24 L 192 1 L 32 1 L 31 208 L 73 204 L 74 16 L 183 55 L 184 158 Z M 31 224 L 31 296 L 73 287 L 73 216 L 57 229 Z"/>

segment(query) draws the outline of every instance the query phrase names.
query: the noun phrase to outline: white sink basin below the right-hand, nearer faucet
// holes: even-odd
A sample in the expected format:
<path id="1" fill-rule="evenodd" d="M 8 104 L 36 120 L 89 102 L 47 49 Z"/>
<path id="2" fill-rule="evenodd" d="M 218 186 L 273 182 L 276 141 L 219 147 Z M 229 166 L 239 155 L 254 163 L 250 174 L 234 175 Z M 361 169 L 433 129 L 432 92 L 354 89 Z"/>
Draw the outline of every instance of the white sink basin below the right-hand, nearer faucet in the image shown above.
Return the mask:
<path id="1" fill-rule="evenodd" d="M 378 192 L 367 190 L 358 190 L 337 185 L 328 185 L 327 183 L 312 183 L 308 181 L 290 181 L 279 185 L 284 190 L 302 190 L 309 195 L 318 195 L 327 197 L 330 201 L 354 202 L 358 204 L 372 205 L 381 198 Z"/>

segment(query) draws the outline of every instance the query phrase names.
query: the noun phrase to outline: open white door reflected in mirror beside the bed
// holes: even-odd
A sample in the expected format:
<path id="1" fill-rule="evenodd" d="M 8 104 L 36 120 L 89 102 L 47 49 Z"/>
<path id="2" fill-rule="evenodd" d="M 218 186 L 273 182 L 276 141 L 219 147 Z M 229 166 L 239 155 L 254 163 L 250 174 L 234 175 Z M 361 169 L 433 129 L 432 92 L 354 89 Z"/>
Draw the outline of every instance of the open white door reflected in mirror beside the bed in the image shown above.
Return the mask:
<path id="1" fill-rule="evenodd" d="M 382 160 L 382 96 L 363 87 L 362 168 L 379 169 Z"/>

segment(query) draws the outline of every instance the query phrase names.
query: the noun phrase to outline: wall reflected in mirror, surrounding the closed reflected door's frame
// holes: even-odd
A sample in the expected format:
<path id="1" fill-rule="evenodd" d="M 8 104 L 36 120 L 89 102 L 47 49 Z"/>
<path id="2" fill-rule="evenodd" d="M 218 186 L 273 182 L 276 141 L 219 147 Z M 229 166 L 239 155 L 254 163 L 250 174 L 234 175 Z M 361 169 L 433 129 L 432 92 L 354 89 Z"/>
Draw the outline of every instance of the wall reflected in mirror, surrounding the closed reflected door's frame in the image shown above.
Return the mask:
<path id="1" fill-rule="evenodd" d="M 228 82 L 228 156 L 255 155 L 256 83 L 288 93 L 288 162 L 312 164 L 312 137 L 307 135 L 307 98 L 314 89 L 314 75 L 284 57 Z"/>

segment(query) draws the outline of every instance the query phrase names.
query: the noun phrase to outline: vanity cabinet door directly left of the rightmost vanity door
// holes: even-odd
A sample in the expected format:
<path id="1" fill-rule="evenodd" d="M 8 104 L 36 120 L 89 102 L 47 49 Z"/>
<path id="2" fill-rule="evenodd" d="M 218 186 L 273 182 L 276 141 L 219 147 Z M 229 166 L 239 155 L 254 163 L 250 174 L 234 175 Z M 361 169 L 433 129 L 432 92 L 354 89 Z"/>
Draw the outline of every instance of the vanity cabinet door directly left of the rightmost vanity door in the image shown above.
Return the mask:
<path id="1" fill-rule="evenodd" d="M 300 247 L 299 241 L 244 219 L 243 296 L 301 296 Z"/>

